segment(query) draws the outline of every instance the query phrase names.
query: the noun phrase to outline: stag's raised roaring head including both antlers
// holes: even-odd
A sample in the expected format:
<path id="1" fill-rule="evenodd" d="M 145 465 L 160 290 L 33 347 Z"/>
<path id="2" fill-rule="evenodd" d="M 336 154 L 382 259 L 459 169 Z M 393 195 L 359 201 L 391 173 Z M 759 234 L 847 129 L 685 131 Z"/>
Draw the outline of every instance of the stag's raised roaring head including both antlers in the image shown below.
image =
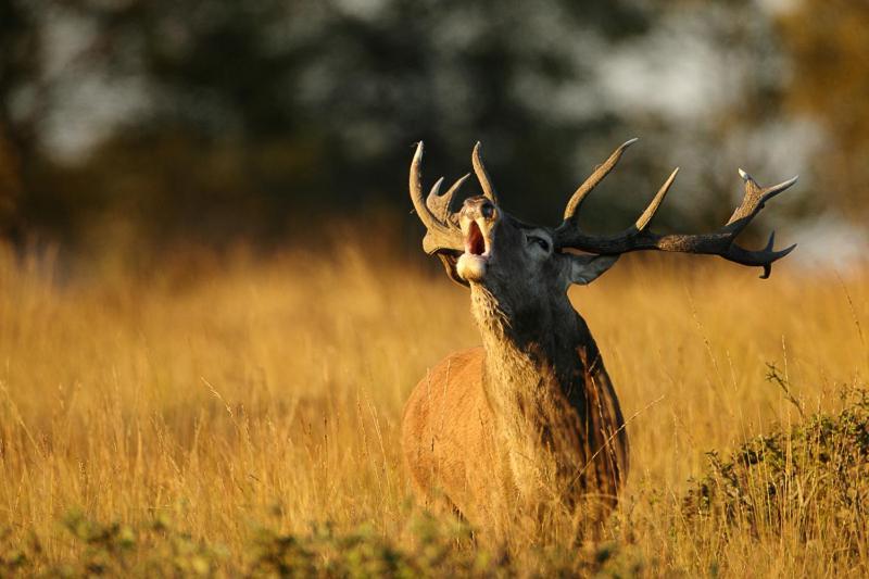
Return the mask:
<path id="1" fill-rule="evenodd" d="M 470 176 L 468 174 L 442 194 L 443 178 L 439 179 L 425 197 L 420 176 L 420 142 L 411 164 L 411 199 L 427 228 L 423 248 L 441 259 L 455 281 L 471 288 L 486 288 L 495 298 L 518 304 L 551 299 L 553 294 L 563 295 L 571 284 L 589 284 L 606 272 L 620 254 L 631 251 L 720 255 L 742 265 L 763 267 L 761 277 L 766 278 L 772 263 L 796 247 L 774 251 L 773 235 L 770 235 L 766 248 L 757 251 L 746 250 L 735 243 L 736 236 L 759 213 L 764 203 L 796 182 L 794 177 L 761 188 L 742 169 L 740 175 L 745 181 L 745 196 L 727 224 L 717 231 L 660 235 L 648 229 L 652 217 L 676 179 L 677 168 L 631 227 L 609 236 L 584 232 L 577 224 L 582 202 L 635 141 L 629 140 L 616 149 L 580 185 L 567 202 L 563 222 L 556 227 L 529 225 L 503 210 L 482 163 L 479 143 L 474 148 L 471 161 L 482 196 L 466 199 L 461 207 L 454 206 L 455 193 Z"/>

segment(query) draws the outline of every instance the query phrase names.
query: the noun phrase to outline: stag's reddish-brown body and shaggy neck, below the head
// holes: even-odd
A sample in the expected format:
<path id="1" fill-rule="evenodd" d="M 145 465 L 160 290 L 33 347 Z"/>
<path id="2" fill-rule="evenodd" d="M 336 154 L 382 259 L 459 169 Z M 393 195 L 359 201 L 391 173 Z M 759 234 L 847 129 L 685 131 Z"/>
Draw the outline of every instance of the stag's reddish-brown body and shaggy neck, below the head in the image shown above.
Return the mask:
<path id="1" fill-rule="evenodd" d="M 570 516 L 580 498 L 593 498 L 597 512 L 612 507 L 628 441 L 585 324 L 570 309 L 537 340 L 537 328 L 506 326 L 490 297 L 473 293 L 483 347 L 443 360 L 405 407 L 403 449 L 417 492 L 495 526 L 541 507 Z"/>

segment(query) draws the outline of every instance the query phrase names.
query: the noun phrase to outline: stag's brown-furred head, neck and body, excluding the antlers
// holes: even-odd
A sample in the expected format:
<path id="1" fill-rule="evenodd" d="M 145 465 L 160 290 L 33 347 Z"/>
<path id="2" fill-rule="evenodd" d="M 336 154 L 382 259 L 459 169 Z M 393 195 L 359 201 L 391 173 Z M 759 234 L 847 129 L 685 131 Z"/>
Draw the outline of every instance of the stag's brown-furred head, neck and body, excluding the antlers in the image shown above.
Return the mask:
<path id="1" fill-rule="evenodd" d="M 516 521 L 600 520 L 627 476 L 628 441 L 597 345 L 565 289 L 615 260 L 539 247 L 532 238 L 545 232 L 484 198 L 466 200 L 461 218 L 480 224 L 491 250 L 484 263 L 458 261 L 482 348 L 448 356 L 407 401 L 402 444 L 414 488 L 429 508 L 496 534 Z"/>

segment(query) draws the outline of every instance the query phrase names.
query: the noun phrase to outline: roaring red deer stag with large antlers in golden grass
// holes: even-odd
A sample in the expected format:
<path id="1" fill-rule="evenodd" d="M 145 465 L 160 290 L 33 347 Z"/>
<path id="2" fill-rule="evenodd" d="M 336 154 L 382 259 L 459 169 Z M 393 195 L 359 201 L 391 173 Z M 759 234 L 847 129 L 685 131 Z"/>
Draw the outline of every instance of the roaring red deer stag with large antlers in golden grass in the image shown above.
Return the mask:
<path id="1" fill-rule="evenodd" d="M 517 516 L 539 520 L 543 513 L 566 514 L 575 525 L 600 520 L 615 506 L 627 477 L 628 439 L 601 353 L 570 305 L 568 287 L 594 281 L 631 251 L 720 255 L 763 267 L 766 278 L 772 262 L 794 249 L 773 251 L 772 235 L 758 251 L 734 242 L 767 201 L 796 181 L 761 188 L 743 171 L 742 203 L 715 232 L 648 229 L 678 169 L 633 226 L 610 236 L 583 231 L 577 224 L 582 202 L 635 140 L 616 149 L 577 189 L 555 228 L 529 225 L 502 209 L 479 143 L 473 164 L 483 194 L 453 211 L 468 174 L 444 194 L 439 179 L 425 198 L 423 143 L 417 146 L 411 200 L 427 228 L 423 249 L 440 257 L 453 280 L 470 287 L 482 337 L 481 347 L 434 366 L 404 410 L 405 465 L 429 506 L 448 506 L 495 529 Z"/>

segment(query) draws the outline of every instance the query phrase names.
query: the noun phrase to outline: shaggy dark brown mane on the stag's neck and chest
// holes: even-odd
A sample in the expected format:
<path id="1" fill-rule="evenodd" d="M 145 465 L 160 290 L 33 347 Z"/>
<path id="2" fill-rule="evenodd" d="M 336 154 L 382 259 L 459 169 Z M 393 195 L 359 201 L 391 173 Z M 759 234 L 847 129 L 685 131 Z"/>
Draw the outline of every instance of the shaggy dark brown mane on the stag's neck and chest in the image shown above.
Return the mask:
<path id="1" fill-rule="evenodd" d="M 518 496 L 557 489 L 554 496 L 569 503 L 578 484 L 610 501 L 627 474 L 624 419 L 567 297 L 550 310 L 517 312 L 474 285 L 471 311 L 486 351 L 483 389 Z"/>

